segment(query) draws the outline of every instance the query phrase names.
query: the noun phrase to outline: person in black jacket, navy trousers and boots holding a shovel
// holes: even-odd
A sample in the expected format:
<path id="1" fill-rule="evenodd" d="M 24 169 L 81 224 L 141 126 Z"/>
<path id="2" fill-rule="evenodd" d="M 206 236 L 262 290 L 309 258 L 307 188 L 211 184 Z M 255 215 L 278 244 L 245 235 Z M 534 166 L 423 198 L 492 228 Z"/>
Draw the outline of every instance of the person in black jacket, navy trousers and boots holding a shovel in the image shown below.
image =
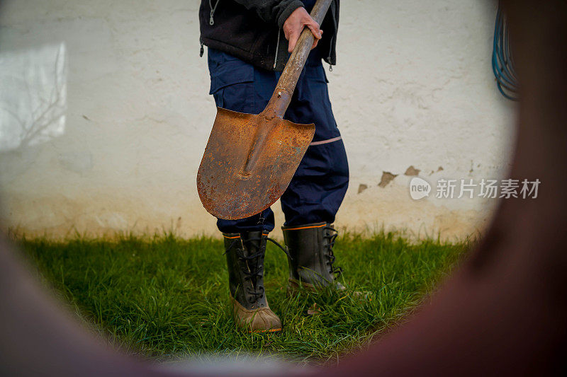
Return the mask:
<path id="1" fill-rule="evenodd" d="M 330 65 L 336 61 L 339 0 L 332 2 L 322 28 L 309 16 L 314 4 L 315 0 L 202 0 L 199 11 L 201 54 L 203 45 L 208 46 L 210 94 L 218 107 L 228 110 L 262 112 L 303 28 L 310 28 L 315 35 L 284 117 L 315 124 L 313 142 L 281 197 L 290 294 L 300 286 L 344 289 L 333 267 L 337 231 L 331 224 L 347 191 L 349 173 L 322 66 L 322 59 Z M 281 330 L 281 320 L 269 308 L 263 282 L 273 212 L 266 209 L 236 221 L 218 219 L 217 225 L 225 238 L 235 323 L 254 332 Z"/>

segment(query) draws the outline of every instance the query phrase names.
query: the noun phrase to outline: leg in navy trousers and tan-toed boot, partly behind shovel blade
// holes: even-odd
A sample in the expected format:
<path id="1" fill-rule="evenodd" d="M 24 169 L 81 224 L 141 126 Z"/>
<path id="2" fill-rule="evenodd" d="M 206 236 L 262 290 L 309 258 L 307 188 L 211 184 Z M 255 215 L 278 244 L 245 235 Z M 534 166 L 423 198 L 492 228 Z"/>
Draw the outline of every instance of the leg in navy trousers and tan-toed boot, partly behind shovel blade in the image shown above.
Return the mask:
<path id="1" fill-rule="evenodd" d="M 220 108 L 257 114 L 274 91 L 275 74 L 218 50 L 208 49 L 210 94 Z M 266 89 L 267 88 L 267 89 Z M 264 253 L 274 213 L 265 209 L 247 219 L 218 219 L 225 239 L 230 296 L 235 323 L 252 332 L 279 331 L 281 321 L 264 293 Z"/>

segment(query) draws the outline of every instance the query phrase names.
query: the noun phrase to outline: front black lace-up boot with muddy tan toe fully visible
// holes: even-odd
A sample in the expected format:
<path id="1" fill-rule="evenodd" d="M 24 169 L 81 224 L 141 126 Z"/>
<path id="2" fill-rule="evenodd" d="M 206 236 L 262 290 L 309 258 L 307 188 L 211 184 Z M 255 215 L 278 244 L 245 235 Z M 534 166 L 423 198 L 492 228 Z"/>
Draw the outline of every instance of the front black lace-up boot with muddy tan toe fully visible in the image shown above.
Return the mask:
<path id="1" fill-rule="evenodd" d="M 281 331 L 264 291 L 264 253 L 268 236 L 258 232 L 223 233 L 232 313 L 237 327 L 249 332 Z"/>

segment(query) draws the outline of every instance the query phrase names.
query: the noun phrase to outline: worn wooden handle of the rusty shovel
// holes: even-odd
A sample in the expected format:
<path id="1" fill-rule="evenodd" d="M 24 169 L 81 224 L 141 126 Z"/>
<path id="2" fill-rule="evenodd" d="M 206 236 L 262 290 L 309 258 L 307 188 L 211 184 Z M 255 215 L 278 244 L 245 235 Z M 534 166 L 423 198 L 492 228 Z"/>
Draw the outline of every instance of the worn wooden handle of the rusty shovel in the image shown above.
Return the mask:
<path id="1" fill-rule="evenodd" d="M 313 6 L 310 16 L 319 25 L 322 23 L 323 18 L 325 18 L 331 1 L 332 0 L 317 0 L 315 6 Z M 314 40 L 315 37 L 313 33 L 311 33 L 311 30 L 305 27 L 299 36 L 296 47 L 291 53 L 291 57 L 289 57 L 286 68 L 283 69 L 281 73 L 274 95 L 271 96 L 266 107 L 266 112 L 269 112 L 266 115 L 283 118 L 283 114 L 285 114 L 291 102 L 291 95 L 293 95 L 293 91 L 296 90 L 299 75 L 301 75 L 301 71 L 303 71 L 303 66 L 305 66 Z"/>

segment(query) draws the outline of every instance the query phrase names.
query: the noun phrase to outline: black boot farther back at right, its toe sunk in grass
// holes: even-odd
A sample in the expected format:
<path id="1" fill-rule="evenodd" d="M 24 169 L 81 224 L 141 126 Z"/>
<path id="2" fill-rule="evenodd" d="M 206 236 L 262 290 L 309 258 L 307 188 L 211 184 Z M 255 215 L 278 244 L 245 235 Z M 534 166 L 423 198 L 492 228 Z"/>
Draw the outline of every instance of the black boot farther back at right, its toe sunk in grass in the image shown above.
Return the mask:
<path id="1" fill-rule="evenodd" d="M 331 224 L 283 226 L 281 229 L 289 253 L 288 294 L 296 294 L 300 286 L 310 291 L 327 286 L 344 289 L 337 281 L 341 269 L 333 267 L 332 246 L 337 231 Z"/>

